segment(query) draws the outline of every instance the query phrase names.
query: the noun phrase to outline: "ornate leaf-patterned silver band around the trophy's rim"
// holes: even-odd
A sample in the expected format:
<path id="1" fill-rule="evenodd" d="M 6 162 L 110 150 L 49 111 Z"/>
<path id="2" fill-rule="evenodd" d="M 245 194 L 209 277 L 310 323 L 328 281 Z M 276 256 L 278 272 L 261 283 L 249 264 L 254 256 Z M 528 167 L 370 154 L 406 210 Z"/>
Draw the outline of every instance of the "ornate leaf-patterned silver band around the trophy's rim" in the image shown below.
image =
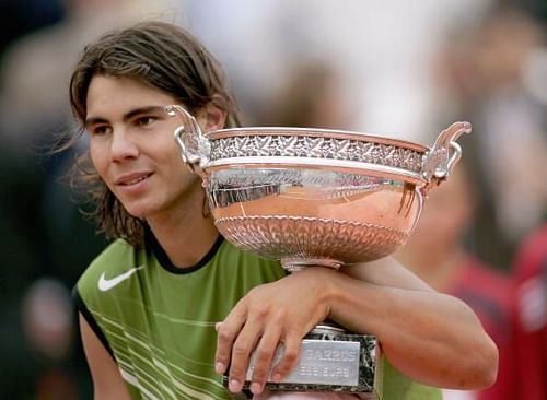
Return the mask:
<path id="1" fill-rule="evenodd" d="M 426 185 L 429 148 L 347 130 L 245 127 L 203 134 L 201 168 L 314 168 L 374 174 Z"/>

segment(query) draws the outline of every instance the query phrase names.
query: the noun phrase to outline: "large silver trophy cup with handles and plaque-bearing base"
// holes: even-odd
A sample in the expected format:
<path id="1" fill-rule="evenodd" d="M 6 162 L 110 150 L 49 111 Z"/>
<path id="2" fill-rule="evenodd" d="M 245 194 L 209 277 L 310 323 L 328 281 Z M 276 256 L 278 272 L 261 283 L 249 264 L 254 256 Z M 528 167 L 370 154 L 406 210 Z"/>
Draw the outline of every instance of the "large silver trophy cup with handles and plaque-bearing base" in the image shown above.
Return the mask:
<path id="1" fill-rule="evenodd" d="M 432 148 L 359 132 L 249 127 L 202 133 L 182 106 L 175 140 L 202 179 L 219 232 L 290 272 L 372 261 L 404 245 L 429 190 L 462 155 L 455 122 Z M 326 321 L 303 340 L 300 362 L 270 390 L 374 396 L 376 340 Z M 280 349 L 277 357 L 282 354 Z M 251 380 L 253 360 L 247 372 Z M 248 384 L 248 383 L 247 383 Z"/>

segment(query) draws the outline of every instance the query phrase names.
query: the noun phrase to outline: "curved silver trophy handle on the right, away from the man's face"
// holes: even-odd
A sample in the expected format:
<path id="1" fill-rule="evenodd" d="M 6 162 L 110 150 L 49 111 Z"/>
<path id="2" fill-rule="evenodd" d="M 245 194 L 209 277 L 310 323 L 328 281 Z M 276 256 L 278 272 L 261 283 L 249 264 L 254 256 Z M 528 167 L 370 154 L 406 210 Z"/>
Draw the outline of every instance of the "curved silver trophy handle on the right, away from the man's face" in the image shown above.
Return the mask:
<path id="1" fill-rule="evenodd" d="M 423 156 L 423 177 L 428 180 L 423 187 L 427 193 L 431 188 L 446 180 L 456 163 L 462 157 L 462 146 L 456 140 L 464 133 L 472 132 L 472 125 L 466 121 L 452 123 L 443 130 L 435 143 Z"/>

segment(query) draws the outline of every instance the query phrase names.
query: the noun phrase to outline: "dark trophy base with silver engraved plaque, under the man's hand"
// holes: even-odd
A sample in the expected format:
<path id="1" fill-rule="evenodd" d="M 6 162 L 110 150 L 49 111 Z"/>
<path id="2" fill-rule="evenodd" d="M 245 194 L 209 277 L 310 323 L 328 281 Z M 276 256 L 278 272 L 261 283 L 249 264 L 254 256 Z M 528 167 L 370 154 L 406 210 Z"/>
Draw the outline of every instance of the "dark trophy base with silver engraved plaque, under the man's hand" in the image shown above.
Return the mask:
<path id="1" fill-rule="evenodd" d="M 350 333 L 338 327 L 319 325 L 302 341 L 300 360 L 281 383 L 267 381 L 270 391 L 324 391 L 368 395 L 376 399 L 374 375 L 376 367 L 376 338 Z M 282 356 L 276 354 L 274 364 Z M 244 388 L 248 388 L 254 369 L 252 357 Z M 228 377 L 223 377 L 228 386 Z"/>

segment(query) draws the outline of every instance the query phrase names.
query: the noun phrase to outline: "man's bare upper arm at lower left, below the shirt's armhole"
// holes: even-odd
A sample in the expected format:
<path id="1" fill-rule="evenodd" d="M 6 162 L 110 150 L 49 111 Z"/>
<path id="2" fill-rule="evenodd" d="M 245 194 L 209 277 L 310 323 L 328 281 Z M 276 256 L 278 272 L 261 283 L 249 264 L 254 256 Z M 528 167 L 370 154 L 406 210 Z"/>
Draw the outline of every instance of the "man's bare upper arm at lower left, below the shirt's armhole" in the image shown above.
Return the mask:
<path id="1" fill-rule="evenodd" d="M 90 328 L 85 318 L 80 315 L 79 319 L 83 350 L 93 378 L 94 399 L 131 400 L 126 384 L 119 374 L 118 366 L 110 354 Z"/>

